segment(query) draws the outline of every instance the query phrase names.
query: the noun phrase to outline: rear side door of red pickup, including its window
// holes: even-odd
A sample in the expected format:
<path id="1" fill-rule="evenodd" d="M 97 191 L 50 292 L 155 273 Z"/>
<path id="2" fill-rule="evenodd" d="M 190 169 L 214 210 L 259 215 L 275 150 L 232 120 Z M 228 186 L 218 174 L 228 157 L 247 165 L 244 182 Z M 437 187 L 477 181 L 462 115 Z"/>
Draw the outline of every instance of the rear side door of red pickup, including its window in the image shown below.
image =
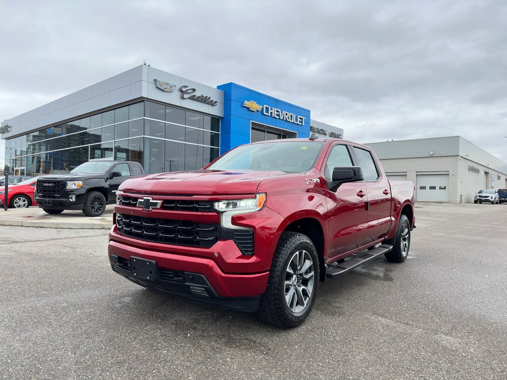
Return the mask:
<path id="1" fill-rule="evenodd" d="M 368 243 L 385 237 L 391 226 L 391 187 L 387 177 L 379 170 L 370 150 L 353 146 L 356 165 L 363 170 L 368 193 Z"/>

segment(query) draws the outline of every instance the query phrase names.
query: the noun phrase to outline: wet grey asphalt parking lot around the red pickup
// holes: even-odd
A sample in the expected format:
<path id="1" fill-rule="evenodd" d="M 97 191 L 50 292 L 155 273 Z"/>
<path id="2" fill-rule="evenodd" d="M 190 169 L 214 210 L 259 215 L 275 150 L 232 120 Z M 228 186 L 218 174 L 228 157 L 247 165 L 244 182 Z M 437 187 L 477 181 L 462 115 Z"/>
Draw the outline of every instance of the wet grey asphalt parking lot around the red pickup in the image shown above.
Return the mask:
<path id="1" fill-rule="evenodd" d="M 507 377 L 507 204 L 422 204 L 403 264 L 321 284 L 292 330 L 145 290 L 107 231 L 0 226 L 0 378 Z"/>

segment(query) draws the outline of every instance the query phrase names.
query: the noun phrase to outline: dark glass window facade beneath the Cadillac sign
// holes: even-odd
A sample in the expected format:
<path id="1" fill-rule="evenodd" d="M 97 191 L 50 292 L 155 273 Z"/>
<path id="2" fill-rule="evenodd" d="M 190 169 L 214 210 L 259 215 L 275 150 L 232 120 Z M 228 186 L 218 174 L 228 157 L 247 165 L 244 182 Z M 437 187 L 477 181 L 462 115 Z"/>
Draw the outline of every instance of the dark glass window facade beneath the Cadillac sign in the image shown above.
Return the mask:
<path id="1" fill-rule="evenodd" d="M 152 174 L 200 169 L 219 151 L 219 118 L 145 100 L 6 140 L 6 163 L 35 176 L 111 157 Z"/>

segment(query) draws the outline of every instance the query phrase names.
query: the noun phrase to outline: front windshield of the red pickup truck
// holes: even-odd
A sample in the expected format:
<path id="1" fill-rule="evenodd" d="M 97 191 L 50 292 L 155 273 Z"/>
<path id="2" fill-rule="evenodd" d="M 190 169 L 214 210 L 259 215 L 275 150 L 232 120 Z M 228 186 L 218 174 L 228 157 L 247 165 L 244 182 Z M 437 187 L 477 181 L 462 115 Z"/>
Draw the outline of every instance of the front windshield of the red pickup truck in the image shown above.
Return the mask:
<path id="1" fill-rule="evenodd" d="M 277 141 L 238 146 L 207 169 L 301 173 L 310 170 L 323 142 Z"/>

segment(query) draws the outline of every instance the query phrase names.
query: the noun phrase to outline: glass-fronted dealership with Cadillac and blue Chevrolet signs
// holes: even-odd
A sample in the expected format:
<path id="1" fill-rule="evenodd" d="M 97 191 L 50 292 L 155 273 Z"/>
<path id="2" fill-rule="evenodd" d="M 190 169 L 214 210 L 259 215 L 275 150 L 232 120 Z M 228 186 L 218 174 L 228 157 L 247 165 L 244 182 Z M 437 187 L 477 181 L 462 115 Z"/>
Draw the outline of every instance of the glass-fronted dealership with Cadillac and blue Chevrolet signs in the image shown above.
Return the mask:
<path id="1" fill-rule="evenodd" d="M 200 169 L 240 144 L 343 136 L 310 110 L 235 83 L 216 88 L 134 67 L 2 122 L 17 175 L 65 173 L 89 159 L 141 163 L 147 173 Z"/>

